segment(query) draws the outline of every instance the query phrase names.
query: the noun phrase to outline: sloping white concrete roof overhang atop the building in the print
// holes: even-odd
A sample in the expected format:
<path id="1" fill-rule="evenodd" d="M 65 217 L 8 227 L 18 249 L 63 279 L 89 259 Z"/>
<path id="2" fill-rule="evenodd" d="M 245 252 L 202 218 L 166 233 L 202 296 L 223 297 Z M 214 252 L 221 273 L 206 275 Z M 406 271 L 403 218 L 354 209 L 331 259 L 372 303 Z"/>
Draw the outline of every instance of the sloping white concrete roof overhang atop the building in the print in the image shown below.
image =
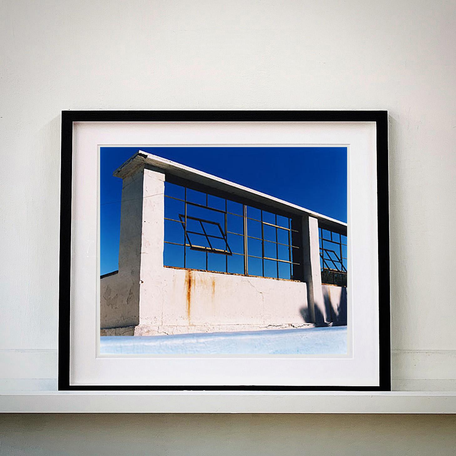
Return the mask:
<path id="1" fill-rule="evenodd" d="M 210 187 L 238 198 L 247 199 L 250 202 L 258 203 L 261 206 L 267 206 L 271 209 L 277 209 L 280 212 L 286 212 L 293 215 L 307 215 L 317 218 L 327 228 L 335 228 L 342 234 L 347 234 L 347 223 L 341 222 L 334 218 L 326 217 L 318 212 L 311 211 L 305 207 L 298 206 L 291 202 L 258 192 L 252 188 L 244 187 L 235 182 L 227 181 L 218 176 L 213 176 L 204 171 L 182 165 L 175 161 L 153 155 L 148 152 L 139 150 L 130 159 L 125 161 L 117 168 L 113 176 L 124 178 L 132 174 L 139 167 L 145 166 L 154 171 L 163 172 L 165 175 L 174 176 L 180 179 L 194 182 L 204 187 Z"/>

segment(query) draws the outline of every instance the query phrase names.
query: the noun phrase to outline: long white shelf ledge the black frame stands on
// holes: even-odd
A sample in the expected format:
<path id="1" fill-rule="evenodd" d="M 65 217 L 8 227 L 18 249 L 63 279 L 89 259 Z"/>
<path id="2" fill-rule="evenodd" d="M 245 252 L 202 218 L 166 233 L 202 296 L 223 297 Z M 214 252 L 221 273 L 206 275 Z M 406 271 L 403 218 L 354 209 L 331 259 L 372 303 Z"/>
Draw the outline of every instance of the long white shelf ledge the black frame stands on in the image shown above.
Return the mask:
<path id="1" fill-rule="evenodd" d="M 455 414 L 456 392 L 5 392 L 0 394 L 0 412 Z"/>

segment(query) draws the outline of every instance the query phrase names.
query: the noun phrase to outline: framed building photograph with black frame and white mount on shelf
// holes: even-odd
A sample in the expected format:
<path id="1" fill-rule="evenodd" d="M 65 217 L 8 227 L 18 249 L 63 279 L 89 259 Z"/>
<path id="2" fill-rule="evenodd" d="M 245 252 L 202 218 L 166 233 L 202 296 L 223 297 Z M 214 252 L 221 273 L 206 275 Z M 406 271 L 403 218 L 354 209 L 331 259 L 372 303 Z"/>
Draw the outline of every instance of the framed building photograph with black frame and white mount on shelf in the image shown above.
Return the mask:
<path id="1" fill-rule="evenodd" d="M 59 389 L 390 390 L 386 111 L 64 111 Z"/>

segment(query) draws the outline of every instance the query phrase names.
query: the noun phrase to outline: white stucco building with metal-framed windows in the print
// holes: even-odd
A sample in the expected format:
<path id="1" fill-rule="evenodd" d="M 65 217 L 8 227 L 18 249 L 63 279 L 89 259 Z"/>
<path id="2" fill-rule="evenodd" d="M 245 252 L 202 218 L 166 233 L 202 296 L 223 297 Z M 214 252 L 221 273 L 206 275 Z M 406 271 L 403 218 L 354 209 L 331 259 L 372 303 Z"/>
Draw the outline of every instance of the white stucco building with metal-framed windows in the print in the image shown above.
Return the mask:
<path id="1" fill-rule="evenodd" d="M 347 324 L 334 285 L 346 223 L 142 151 L 114 176 L 119 270 L 101 276 L 102 335 Z"/>

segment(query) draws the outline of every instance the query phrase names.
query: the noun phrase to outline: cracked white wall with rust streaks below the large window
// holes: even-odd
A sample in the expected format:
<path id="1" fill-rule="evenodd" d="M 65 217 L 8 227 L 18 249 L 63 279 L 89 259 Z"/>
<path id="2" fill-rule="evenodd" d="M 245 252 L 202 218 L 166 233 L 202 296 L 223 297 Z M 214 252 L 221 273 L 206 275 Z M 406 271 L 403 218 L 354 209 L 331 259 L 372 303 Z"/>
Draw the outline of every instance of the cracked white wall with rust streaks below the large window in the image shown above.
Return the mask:
<path id="1" fill-rule="evenodd" d="M 159 295 L 151 282 L 143 284 L 145 309 L 136 335 L 306 326 L 303 282 L 171 268 L 163 268 Z"/>

